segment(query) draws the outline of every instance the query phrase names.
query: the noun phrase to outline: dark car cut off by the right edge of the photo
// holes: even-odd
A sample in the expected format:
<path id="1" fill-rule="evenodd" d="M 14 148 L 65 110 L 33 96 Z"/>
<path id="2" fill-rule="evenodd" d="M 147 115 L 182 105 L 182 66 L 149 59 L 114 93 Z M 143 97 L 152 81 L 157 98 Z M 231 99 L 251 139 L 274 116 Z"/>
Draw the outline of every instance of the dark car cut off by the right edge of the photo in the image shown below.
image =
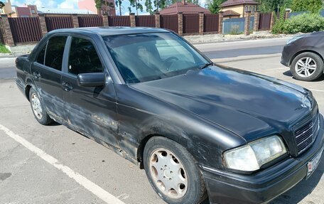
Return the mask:
<path id="1" fill-rule="evenodd" d="M 296 36 L 282 51 L 281 64 L 290 67 L 297 80 L 312 81 L 324 72 L 324 32 Z"/>

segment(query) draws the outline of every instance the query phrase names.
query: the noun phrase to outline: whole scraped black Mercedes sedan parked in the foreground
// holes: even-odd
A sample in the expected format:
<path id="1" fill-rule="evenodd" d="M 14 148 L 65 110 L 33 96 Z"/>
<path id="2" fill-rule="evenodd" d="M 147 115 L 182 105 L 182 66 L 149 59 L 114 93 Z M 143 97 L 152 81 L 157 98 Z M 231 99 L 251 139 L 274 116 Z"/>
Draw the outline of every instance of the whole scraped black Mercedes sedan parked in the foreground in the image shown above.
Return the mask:
<path id="1" fill-rule="evenodd" d="M 323 116 L 309 90 L 213 65 L 171 31 L 51 31 L 16 68 L 38 122 L 145 168 L 167 203 L 268 202 L 322 158 Z"/>

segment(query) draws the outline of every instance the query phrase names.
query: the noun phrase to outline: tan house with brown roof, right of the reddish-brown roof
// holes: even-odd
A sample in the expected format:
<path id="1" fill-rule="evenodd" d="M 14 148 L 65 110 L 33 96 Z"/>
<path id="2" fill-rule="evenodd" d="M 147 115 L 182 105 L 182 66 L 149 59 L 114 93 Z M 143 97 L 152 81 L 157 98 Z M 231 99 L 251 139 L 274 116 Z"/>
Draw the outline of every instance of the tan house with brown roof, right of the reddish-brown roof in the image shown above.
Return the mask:
<path id="1" fill-rule="evenodd" d="M 251 11 L 253 16 L 255 11 L 259 11 L 259 4 L 253 0 L 227 0 L 221 5 L 220 11 L 227 15 L 225 18 L 231 18 L 232 16 L 242 18 L 247 11 Z"/>

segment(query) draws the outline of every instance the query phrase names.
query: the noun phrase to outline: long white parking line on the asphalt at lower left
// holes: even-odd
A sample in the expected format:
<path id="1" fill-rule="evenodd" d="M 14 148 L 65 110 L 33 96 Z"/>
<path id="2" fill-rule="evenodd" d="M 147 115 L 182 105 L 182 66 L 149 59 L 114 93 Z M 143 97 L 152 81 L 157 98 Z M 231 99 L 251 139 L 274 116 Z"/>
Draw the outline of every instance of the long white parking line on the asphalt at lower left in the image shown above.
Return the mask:
<path id="1" fill-rule="evenodd" d="M 73 178 L 77 183 L 79 183 L 81 186 L 89 190 L 91 193 L 97 195 L 99 198 L 104 200 L 106 203 L 112 203 L 112 204 L 124 204 L 121 200 L 114 197 L 114 195 L 108 193 L 106 190 L 100 188 L 97 186 L 97 184 L 92 183 L 92 181 L 85 178 L 85 176 L 82 176 L 80 173 L 77 173 L 73 171 L 70 167 L 63 165 L 60 163 L 57 159 L 55 159 L 53 156 L 50 156 L 49 154 L 46 154 L 45 151 L 39 149 L 37 146 L 34 146 L 29 141 L 26 141 L 26 139 L 23 139 L 21 136 L 18 136 L 17 134 L 14 134 L 13 131 L 10 129 L 4 127 L 0 124 L 0 129 L 4 131 L 8 136 L 10 136 L 12 139 L 16 140 L 21 145 L 25 146 L 27 149 L 35 153 L 37 156 L 41 157 L 44 161 L 47 161 L 55 168 L 58 168 L 60 171 L 68 175 L 70 178 Z"/>

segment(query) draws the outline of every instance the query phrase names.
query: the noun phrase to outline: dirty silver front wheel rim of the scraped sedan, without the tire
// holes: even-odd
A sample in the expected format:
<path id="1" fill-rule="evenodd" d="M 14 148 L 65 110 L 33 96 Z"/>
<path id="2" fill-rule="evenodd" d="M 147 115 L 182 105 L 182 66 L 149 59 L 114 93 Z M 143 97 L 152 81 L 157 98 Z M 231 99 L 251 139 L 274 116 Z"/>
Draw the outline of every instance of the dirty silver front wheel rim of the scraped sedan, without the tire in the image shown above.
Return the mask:
<path id="1" fill-rule="evenodd" d="M 173 152 L 156 149 L 150 156 L 151 178 L 169 198 L 183 198 L 188 189 L 188 177 L 183 164 Z"/>

